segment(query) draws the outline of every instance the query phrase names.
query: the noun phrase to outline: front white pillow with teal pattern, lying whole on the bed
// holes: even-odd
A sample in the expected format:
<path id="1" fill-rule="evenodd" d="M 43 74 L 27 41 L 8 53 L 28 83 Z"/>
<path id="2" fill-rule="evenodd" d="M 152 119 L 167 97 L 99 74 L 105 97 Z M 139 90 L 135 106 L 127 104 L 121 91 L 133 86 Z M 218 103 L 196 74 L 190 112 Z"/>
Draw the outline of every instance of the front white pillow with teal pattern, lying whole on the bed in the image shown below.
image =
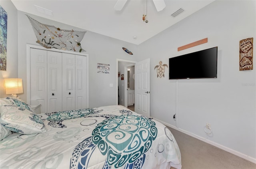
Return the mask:
<path id="1" fill-rule="evenodd" d="M 20 134 L 36 134 L 45 131 L 42 119 L 24 107 L 2 104 L 0 111 L 0 123 L 10 131 Z"/>

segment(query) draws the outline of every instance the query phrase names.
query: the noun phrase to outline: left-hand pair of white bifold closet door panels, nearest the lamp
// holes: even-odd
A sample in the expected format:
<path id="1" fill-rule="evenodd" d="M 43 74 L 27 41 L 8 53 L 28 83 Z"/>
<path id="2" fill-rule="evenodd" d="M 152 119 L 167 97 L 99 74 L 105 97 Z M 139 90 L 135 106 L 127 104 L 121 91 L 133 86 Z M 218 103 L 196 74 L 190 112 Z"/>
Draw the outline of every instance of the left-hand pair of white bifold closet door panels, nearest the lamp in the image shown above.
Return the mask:
<path id="1" fill-rule="evenodd" d="M 31 105 L 41 112 L 62 110 L 62 53 L 30 49 Z"/>

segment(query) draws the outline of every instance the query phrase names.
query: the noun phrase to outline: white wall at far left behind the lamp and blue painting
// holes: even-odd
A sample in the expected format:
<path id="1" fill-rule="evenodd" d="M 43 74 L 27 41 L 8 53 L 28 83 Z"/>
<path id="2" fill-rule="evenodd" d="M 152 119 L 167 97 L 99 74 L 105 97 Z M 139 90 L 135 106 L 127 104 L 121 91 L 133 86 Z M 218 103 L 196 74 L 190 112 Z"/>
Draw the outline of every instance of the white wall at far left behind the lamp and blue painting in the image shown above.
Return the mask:
<path id="1" fill-rule="evenodd" d="M 3 98 L 7 96 L 4 78 L 18 78 L 18 23 L 17 10 L 10 0 L 1 0 L 0 6 L 7 12 L 6 71 L 0 70 L 0 98 Z"/>

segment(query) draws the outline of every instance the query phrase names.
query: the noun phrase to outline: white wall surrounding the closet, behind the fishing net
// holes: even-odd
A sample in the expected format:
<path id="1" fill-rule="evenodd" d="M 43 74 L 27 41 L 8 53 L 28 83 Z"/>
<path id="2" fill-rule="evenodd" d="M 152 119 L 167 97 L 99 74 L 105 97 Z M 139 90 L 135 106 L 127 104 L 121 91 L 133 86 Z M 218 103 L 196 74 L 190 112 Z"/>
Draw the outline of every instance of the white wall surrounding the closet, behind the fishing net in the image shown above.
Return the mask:
<path id="1" fill-rule="evenodd" d="M 26 44 L 36 43 L 36 36 L 32 26 L 25 15 L 26 13 L 18 11 L 18 76 L 23 79 L 23 85 L 26 86 Z M 55 22 L 38 16 L 28 14 L 38 22 L 48 25 L 54 25 L 65 30 L 80 30 L 60 22 Z M 87 31 L 81 46 L 89 54 L 89 106 L 98 107 L 104 105 L 116 104 L 116 59 L 136 60 L 137 46 L 107 36 L 102 36 Z M 128 48 L 134 54 L 127 54 L 122 47 Z M 110 74 L 97 73 L 97 63 L 110 64 Z M 113 87 L 110 87 L 113 84 Z M 26 88 L 21 99 L 26 101 Z"/>

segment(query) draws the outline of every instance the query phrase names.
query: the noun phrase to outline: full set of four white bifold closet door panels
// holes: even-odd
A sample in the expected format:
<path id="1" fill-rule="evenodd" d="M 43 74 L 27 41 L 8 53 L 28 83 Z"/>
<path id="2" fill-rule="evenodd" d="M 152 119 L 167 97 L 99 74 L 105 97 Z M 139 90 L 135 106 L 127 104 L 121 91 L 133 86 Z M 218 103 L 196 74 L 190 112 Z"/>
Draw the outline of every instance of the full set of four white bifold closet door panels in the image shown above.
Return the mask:
<path id="1" fill-rule="evenodd" d="M 87 108 L 87 57 L 30 48 L 30 104 L 41 113 Z"/>

